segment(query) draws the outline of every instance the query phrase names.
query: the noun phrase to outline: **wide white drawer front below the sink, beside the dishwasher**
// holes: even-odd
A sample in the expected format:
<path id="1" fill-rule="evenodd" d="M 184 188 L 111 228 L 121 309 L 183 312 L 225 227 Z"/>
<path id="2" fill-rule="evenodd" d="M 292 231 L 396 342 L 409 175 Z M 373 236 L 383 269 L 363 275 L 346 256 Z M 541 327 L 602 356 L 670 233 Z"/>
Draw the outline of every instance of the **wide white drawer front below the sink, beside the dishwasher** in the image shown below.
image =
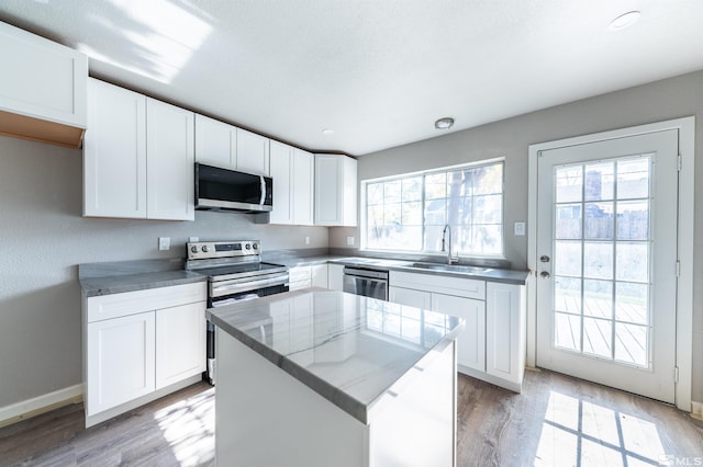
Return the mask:
<path id="1" fill-rule="evenodd" d="M 486 281 L 476 278 L 391 271 L 389 282 L 395 287 L 414 288 L 477 300 L 486 299 Z"/>

